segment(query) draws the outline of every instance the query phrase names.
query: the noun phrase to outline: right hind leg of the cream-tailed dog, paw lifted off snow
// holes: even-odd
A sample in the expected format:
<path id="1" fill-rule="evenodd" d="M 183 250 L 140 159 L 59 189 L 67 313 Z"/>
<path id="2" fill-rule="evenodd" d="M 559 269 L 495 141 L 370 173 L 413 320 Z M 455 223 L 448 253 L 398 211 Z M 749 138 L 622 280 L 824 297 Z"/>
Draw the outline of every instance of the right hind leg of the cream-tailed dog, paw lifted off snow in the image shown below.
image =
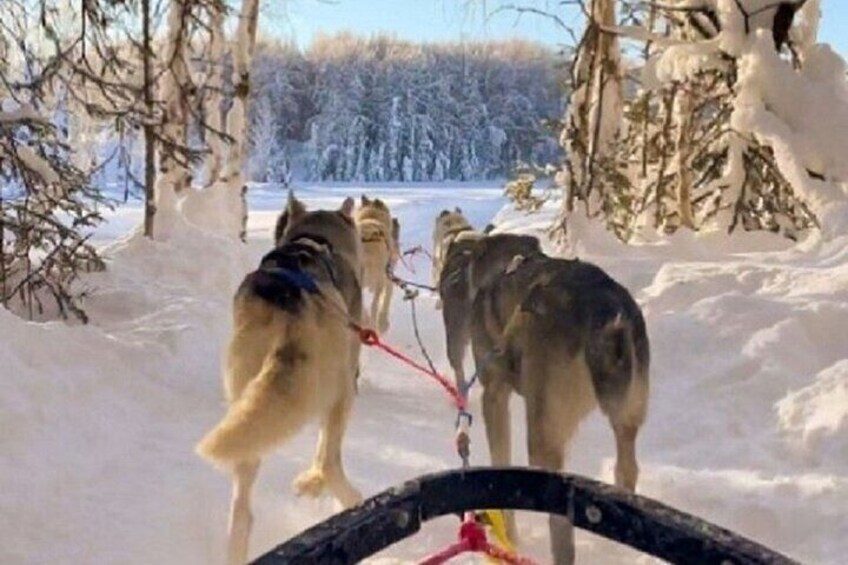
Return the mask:
<path id="1" fill-rule="evenodd" d="M 298 495 L 319 496 L 326 488 L 345 508 L 362 501 L 362 494 L 348 481 L 342 463 L 342 439 L 352 399 L 353 392 L 344 394 L 324 416 L 312 467 L 298 475 L 294 482 Z"/>

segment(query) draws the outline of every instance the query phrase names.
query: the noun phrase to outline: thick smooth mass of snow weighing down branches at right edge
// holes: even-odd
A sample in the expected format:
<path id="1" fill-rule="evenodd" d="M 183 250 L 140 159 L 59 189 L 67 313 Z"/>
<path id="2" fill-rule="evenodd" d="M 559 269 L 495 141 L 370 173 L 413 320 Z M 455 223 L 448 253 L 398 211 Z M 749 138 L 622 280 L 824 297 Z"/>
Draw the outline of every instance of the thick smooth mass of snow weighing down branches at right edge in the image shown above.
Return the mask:
<path id="1" fill-rule="evenodd" d="M 732 116 L 734 129 L 772 147 L 781 171 L 829 233 L 848 225 L 848 216 L 833 214 L 848 204 L 845 72 L 845 62 L 826 45 L 810 48 L 795 70 L 760 32 L 739 59 Z"/>

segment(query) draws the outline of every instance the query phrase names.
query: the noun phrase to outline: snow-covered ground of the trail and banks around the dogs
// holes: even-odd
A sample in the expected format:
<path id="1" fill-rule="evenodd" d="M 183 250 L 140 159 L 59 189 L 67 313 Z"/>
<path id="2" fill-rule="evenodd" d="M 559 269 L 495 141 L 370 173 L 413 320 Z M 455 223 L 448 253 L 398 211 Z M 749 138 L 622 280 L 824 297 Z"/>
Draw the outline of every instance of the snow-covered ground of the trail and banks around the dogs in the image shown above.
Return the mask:
<path id="1" fill-rule="evenodd" d="M 298 191 L 337 206 L 364 190 L 385 197 L 405 247 L 429 247 L 433 219 L 461 207 L 478 226 L 542 234 L 551 209 L 524 216 L 486 186 L 336 186 Z M 88 326 L 28 324 L 0 310 L 0 563 L 219 563 L 228 479 L 192 451 L 223 411 L 219 381 L 230 298 L 270 245 L 284 193 L 251 195 L 250 243 L 184 229 L 167 243 L 124 235 L 129 205 L 98 232 L 109 269 L 86 279 Z M 624 248 L 583 230 L 581 258 L 628 286 L 653 350 L 651 409 L 640 437 L 639 490 L 751 536 L 805 563 L 848 555 L 848 238 L 798 246 L 763 234 L 683 234 Z M 429 280 L 424 261 L 401 274 Z M 422 296 L 427 345 L 447 370 L 441 317 Z M 416 355 L 409 306 L 396 300 L 391 344 Z M 479 414 L 477 395 L 472 411 Z M 345 441 L 366 495 L 455 467 L 453 412 L 442 392 L 393 359 L 364 354 Z M 514 460 L 526 462 L 523 409 Z M 329 500 L 297 499 L 310 428 L 263 465 L 251 554 L 326 518 Z M 480 420 L 472 459 L 488 461 Z M 569 469 L 610 480 L 612 434 L 595 414 Z M 455 519 L 373 560 L 414 562 L 450 543 Z M 522 551 L 547 559 L 546 521 L 521 515 Z M 578 533 L 581 563 L 653 562 Z"/>

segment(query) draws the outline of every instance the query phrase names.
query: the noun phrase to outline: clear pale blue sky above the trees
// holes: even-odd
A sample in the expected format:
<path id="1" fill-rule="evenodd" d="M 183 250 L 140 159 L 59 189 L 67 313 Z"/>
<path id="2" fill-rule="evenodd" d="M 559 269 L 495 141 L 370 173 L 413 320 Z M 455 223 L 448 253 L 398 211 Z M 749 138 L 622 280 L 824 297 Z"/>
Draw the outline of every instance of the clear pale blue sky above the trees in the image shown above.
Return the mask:
<path id="1" fill-rule="evenodd" d="M 535 0 L 536 6 L 555 0 Z M 506 2 L 509 3 L 509 2 Z M 516 1 L 516 4 L 521 2 Z M 531 2 L 527 2 L 532 3 Z M 500 39 L 523 37 L 551 45 L 562 41 L 562 33 L 543 18 L 514 14 L 484 16 L 499 5 L 498 0 L 275 0 L 265 3 L 262 29 L 277 37 L 292 38 L 307 45 L 321 32 L 344 29 L 369 35 L 385 32 L 414 41 Z M 848 56 L 848 0 L 823 0 L 824 17 L 820 40 Z"/>

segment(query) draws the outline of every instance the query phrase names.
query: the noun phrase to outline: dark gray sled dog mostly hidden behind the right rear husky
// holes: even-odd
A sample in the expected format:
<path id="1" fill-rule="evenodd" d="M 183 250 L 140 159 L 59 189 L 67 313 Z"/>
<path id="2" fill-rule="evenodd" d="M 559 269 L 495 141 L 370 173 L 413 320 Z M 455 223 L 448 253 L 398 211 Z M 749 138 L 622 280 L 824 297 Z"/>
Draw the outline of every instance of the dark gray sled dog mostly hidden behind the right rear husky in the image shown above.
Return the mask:
<path id="1" fill-rule="evenodd" d="M 448 246 L 438 288 L 448 361 L 460 390 L 465 386 L 463 361 L 471 342 L 471 305 L 477 289 L 503 274 L 514 257 L 541 252 L 538 239 L 516 234 L 458 238 Z"/>

